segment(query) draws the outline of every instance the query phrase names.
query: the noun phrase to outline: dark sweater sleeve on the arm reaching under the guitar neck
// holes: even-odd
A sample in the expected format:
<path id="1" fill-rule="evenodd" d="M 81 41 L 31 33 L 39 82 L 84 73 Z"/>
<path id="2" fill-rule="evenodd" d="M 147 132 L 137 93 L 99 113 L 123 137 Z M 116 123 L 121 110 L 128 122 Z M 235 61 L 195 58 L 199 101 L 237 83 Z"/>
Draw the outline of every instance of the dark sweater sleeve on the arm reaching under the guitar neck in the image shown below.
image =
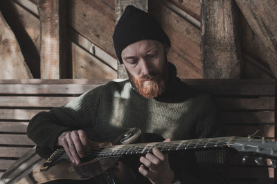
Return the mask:
<path id="1" fill-rule="evenodd" d="M 204 113 L 196 122 L 197 139 L 222 136 L 223 125 L 220 113 L 210 97 L 204 103 Z M 199 150 L 190 155 L 190 162 L 185 161 L 183 169 L 175 171 L 181 183 L 228 183 L 226 179 L 226 150 Z M 179 157 L 180 158 L 180 157 Z M 181 161 L 179 161 L 181 163 Z"/>

